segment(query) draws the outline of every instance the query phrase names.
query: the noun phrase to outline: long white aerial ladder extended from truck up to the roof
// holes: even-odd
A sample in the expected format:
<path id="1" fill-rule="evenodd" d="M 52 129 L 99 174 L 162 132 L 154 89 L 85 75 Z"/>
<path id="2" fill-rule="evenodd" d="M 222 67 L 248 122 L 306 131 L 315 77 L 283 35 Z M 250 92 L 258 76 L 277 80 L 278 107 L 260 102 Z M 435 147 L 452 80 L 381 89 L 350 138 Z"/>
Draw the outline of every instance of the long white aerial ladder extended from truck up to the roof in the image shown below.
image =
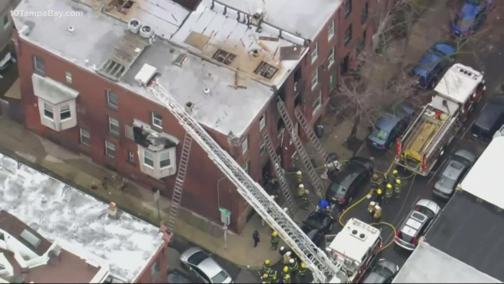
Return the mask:
<path id="1" fill-rule="evenodd" d="M 210 160 L 236 185 L 236 190 L 243 199 L 266 220 L 268 225 L 278 232 L 280 238 L 306 263 L 312 271 L 314 282 L 338 282 L 339 279 L 345 278 L 341 262 L 331 260 L 324 251 L 314 245 L 299 226 L 264 191 L 261 185 L 250 178 L 156 79 L 147 85 L 147 89 L 163 103 L 184 130 L 207 152 Z"/>

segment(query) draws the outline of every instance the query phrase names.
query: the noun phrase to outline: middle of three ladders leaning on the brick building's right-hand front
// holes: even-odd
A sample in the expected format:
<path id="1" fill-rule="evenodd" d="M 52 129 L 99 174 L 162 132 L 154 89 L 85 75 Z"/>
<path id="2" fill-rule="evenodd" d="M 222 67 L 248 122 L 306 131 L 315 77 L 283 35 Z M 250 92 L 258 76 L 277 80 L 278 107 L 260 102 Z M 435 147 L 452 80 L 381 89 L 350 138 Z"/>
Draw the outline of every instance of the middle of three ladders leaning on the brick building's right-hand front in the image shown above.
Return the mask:
<path id="1" fill-rule="evenodd" d="M 296 147 L 297 155 L 301 159 L 303 168 L 308 173 L 311 185 L 313 185 L 313 187 L 315 188 L 315 192 L 317 193 L 317 195 L 320 198 L 323 198 L 324 188 L 322 185 L 322 180 L 317 174 L 317 171 L 315 171 L 315 169 L 313 168 L 313 165 L 311 164 L 308 153 L 306 153 L 306 150 L 304 149 L 301 139 L 299 138 L 299 136 L 297 136 L 296 129 L 294 128 L 294 124 L 292 123 L 292 120 L 290 119 L 289 114 L 287 113 L 287 108 L 285 107 L 284 102 L 282 102 L 282 100 L 278 100 L 277 107 L 278 112 L 280 113 L 280 116 L 282 117 L 285 126 L 287 127 L 287 130 L 289 130 L 290 138 L 292 139 L 292 142 Z"/>

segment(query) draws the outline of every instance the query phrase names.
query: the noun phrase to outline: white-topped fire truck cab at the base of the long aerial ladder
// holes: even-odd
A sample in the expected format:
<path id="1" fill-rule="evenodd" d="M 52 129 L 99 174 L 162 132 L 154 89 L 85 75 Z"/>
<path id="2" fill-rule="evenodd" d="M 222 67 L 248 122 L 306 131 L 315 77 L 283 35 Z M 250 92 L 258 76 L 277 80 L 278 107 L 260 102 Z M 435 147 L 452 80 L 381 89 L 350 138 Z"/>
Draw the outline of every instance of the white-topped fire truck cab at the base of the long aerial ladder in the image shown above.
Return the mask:
<path id="1" fill-rule="evenodd" d="M 327 251 L 329 257 L 343 263 L 343 272 L 347 278 L 340 277 L 339 280 L 342 283 L 357 283 L 381 248 L 380 229 L 351 218 L 333 239 Z"/>

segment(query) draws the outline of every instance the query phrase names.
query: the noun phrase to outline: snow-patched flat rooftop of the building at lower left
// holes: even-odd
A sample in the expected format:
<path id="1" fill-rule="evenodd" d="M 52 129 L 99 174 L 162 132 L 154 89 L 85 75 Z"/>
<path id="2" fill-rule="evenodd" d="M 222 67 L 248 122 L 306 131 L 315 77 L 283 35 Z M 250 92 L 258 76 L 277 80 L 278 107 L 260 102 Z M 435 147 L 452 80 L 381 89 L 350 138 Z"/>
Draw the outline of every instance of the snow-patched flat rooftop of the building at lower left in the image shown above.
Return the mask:
<path id="1" fill-rule="evenodd" d="M 133 281 L 163 244 L 159 228 L 128 213 L 107 217 L 108 205 L 0 154 L 0 208 L 49 241 L 62 239 L 110 263 Z"/>

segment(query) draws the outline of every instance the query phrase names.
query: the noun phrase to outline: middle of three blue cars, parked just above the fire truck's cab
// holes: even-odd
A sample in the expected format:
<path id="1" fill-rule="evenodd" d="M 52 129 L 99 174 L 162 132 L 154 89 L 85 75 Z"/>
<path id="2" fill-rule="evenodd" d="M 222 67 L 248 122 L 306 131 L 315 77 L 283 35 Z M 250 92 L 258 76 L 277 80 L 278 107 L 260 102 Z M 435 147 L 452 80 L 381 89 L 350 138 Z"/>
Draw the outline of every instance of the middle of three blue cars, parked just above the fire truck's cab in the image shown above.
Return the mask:
<path id="1" fill-rule="evenodd" d="M 445 70 L 447 62 L 455 59 L 456 50 L 457 46 L 450 41 L 434 43 L 411 70 L 418 86 L 423 89 L 434 87 L 440 74 Z"/>

